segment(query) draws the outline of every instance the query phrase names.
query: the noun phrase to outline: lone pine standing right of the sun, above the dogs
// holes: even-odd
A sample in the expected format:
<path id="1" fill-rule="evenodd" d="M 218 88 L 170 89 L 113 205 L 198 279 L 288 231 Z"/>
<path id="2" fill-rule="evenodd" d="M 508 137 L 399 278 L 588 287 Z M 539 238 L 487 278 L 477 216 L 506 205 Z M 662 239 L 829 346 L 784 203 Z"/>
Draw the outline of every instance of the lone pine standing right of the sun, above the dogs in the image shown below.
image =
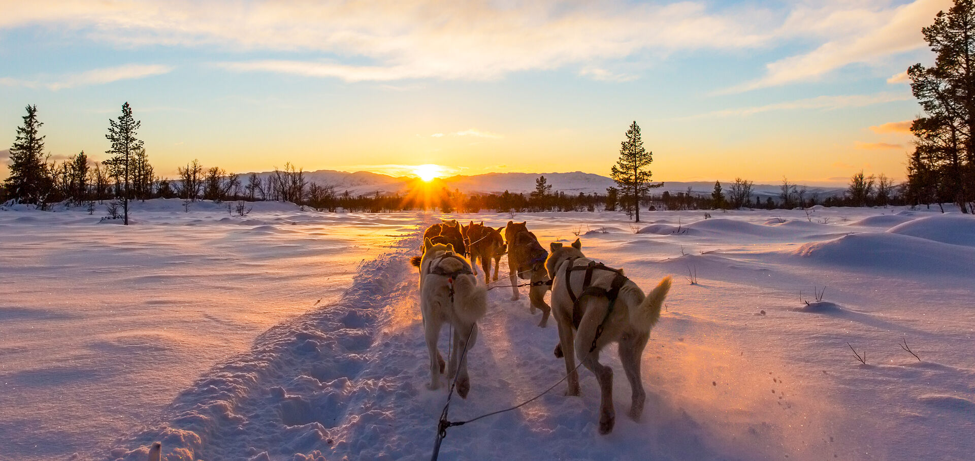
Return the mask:
<path id="1" fill-rule="evenodd" d="M 630 129 L 626 132 L 626 140 L 620 142 L 619 160 L 612 166 L 610 176 L 619 185 L 622 193 L 621 203 L 625 203 L 624 209 L 636 211 L 636 222 L 640 222 L 640 199 L 653 187 L 661 187 L 659 184 L 650 184 L 650 173 L 646 167 L 653 162 L 653 152 L 647 152 L 643 148 L 643 139 L 640 137 L 640 126 L 634 121 Z"/>

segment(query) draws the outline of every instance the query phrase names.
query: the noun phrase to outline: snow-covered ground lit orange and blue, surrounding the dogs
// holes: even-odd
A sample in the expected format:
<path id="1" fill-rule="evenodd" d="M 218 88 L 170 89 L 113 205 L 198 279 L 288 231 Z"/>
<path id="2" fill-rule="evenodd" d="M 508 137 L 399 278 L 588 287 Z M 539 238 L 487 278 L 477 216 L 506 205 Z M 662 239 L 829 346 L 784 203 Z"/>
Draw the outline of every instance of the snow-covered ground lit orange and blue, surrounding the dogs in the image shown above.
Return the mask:
<path id="1" fill-rule="evenodd" d="M 439 217 L 507 215 L 142 207 L 128 228 L 0 211 L 0 459 L 141 460 L 154 441 L 169 460 L 430 456 L 447 392 L 425 388 L 408 259 Z M 975 218 L 709 212 L 648 212 L 640 225 L 515 216 L 545 247 L 578 234 L 643 288 L 675 275 L 643 356 L 646 410 L 625 417 L 608 348 L 612 434 L 597 432 L 599 391 L 582 369 L 581 398 L 563 383 L 450 428 L 443 459 L 971 459 Z M 554 323 L 535 327 L 510 289 L 488 292 L 470 395 L 450 419 L 564 376 Z"/>

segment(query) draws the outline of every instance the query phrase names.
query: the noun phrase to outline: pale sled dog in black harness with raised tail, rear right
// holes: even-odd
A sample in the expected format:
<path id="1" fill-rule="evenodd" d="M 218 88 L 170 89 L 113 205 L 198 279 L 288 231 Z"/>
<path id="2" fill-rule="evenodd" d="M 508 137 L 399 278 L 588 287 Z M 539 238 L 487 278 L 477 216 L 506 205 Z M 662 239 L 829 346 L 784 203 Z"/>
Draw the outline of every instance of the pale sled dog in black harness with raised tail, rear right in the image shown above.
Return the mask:
<path id="1" fill-rule="evenodd" d="M 622 270 L 610 269 L 582 254 L 576 239 L 570 247 L 553 243 L 545 269 L 554 281 L 552 307 L 559 326 L 556 357 L 565 357 L 568 372 L 566 396 L 579 395 L 579 374 L 574 356 L 596 374 L 603 394 L 600 404 L 600 434 L 612 431 L 616 413 L 612 403 L 612 368 L 600 364 L 600 351 L 606 344 L 619 344 L 619 359 L 630 381 L 633 400 L 630 417 L 639 420 L 646 393 L 640 377 L 643 348 L 650 328 L 660 319 L 660 307 L 671 287 L 664 277 L 648 295 L 623 276 Z M 563 354 L 565 351 L 565 354 Z"/>

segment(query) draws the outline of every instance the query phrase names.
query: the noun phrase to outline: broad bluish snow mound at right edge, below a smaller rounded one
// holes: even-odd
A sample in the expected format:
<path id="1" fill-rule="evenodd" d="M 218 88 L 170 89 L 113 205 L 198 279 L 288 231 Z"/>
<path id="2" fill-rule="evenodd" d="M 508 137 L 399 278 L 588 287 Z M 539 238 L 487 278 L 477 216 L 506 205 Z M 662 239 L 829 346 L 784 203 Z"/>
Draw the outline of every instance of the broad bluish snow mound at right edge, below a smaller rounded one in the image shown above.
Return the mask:
<path id="1" fill-rule="evenodd" d="M 792 254 L 855 269 L 919 275 L 972 277 L 975 249 L 948 246 L 894 233 L 857 233 L 802 245 Z"/>

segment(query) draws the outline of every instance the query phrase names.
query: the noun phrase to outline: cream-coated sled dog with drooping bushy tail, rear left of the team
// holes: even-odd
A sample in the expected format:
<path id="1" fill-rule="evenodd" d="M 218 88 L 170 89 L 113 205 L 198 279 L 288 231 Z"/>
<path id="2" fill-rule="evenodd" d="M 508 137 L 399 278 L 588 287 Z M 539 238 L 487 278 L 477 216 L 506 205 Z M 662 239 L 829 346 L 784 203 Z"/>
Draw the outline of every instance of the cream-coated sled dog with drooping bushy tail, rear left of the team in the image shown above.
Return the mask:
<path id="1" fill-rule="evenodd" d="M 448 244 L 425 239 L 419 267 L 420 311 L 430 352 L 430 389 L 440 387 L 444 358 L 437 349 L 437 339 L 440 328 L 447 323 L 453 328 L 447 377 L 457 375 L 457 395 L 466 399 L 471 389 L 466 357 L 478 338 L 476 322 L 487 312 L 487 289 L 478 285 L 470 263 Z M 460 360 L 461 355 L 464 360 Z"/>

